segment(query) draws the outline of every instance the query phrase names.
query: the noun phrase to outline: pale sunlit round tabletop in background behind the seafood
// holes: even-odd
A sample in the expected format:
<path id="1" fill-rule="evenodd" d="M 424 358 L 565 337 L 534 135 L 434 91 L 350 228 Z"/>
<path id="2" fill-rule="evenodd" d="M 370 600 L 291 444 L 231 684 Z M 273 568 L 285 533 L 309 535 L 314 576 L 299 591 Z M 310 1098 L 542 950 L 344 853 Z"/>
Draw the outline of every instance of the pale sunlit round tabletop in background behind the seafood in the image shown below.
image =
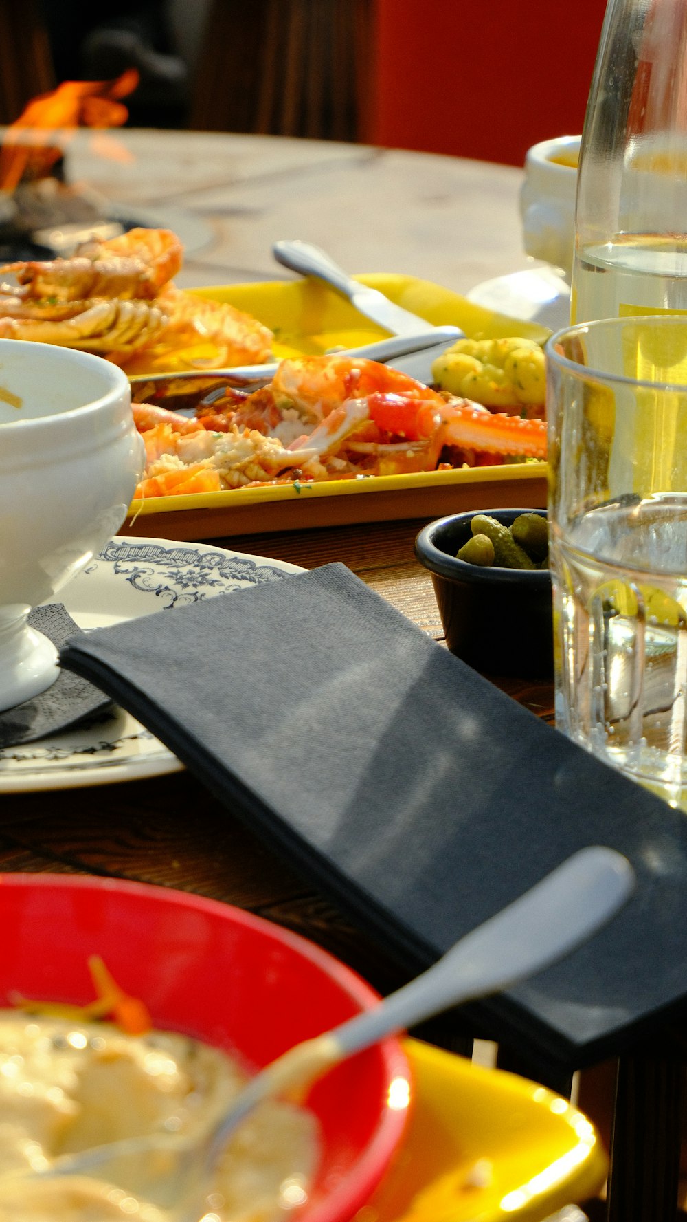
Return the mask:
<path id="1" fill-rule="evenodd" d="M 283 279 L 278 238 L 325 247 L 350 273 L 398 271 L 465 293 L 532 263 L 522 171 L 358 144 L 215 132 L 77 132 L 67 175 L 129 215 L 179 221 L 177 282 Z M 196 246 L 200 243 L 200 246 Z"/>

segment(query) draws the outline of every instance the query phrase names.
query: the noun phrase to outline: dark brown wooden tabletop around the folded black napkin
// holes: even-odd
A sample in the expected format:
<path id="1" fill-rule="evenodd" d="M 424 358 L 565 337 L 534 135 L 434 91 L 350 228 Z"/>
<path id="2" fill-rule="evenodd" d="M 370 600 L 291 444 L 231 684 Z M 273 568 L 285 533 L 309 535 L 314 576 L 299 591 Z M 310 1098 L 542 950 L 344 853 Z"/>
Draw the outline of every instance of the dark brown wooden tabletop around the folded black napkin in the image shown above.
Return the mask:
<path id="1" fill-rule="evenodd" d="M 442 639 L 430 578 L 415 561 L 422 522 L 214 540 L 314 568 L 342 561 L 434 639 Z M 514 692 L 550 709 L 545 684 Z M 98 788 L 5 796 L 0 869 L 104 874 L 174 886 L 289 925 L 388 991 L 390 969 L 365 936 L 295 876 L 187 772 Z"/>

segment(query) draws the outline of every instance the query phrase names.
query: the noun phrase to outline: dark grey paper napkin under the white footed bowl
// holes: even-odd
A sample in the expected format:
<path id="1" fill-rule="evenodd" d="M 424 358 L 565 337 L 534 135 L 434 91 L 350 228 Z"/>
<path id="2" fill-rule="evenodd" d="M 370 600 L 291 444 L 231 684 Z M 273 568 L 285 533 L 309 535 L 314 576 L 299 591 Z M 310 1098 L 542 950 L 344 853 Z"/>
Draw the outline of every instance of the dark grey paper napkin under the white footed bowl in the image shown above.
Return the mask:
<path id="1" fill-rule="evenodd" d="M 61 602 L 34 607 L 28 622 L 32 628 L 48 637 L 56 649 L 61 649 L 70 637 L 79 632 L 78 624 Z M 101 716 L 111 703 L 110 697 L 104 695 L 81 675 L 62 671 L 46 692 L 0 712 L 0 749 L 33 743 L 46 734 L 71 730 L 87 719 Z"/>

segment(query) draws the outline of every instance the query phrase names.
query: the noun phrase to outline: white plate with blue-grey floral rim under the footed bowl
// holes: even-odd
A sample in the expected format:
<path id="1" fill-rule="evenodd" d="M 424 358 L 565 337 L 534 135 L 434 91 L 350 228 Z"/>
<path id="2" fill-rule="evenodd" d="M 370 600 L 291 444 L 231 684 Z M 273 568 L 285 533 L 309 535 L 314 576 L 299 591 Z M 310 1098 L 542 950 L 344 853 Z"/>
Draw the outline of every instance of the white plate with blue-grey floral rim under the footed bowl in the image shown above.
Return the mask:
<path id="1" fill-rule="evenodd" d="M 103 628 L 301 573 L 297 565 L 210 544 L 117 535 L 60 590 L 79 628 Z M 162 776 L 183 767 L 128 712 L 35 743 L 0 749 L 0 793 L 71 789 Z"/>

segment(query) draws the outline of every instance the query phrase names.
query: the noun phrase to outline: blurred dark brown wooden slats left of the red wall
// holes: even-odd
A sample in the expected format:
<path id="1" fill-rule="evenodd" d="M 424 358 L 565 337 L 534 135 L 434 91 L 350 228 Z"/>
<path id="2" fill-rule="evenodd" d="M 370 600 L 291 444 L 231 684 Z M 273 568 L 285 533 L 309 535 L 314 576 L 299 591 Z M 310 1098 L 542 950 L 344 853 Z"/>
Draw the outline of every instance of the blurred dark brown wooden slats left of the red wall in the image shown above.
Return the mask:
<path id="1" fill-rule="evenodd" d="M 359 139 L 372 4 L 212 0 L 189 127 Z"/>

